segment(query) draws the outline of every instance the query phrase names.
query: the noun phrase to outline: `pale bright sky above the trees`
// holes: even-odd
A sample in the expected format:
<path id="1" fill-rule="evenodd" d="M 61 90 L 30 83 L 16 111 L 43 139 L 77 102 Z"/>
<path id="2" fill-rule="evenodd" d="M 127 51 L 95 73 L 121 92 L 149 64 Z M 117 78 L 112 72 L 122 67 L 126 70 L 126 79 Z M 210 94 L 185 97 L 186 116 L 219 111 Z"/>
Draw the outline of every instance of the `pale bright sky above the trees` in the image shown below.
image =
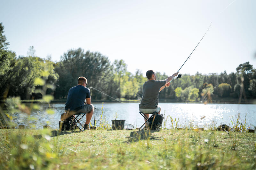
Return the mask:
<path id="1" fill-rule="evenodd" d="M 53 61 L 69 49 L 100 52 L 127 70 L 171 75 L 236 72 L 256 67 L 255 0 L 0 0 L 9 50 Z"/>

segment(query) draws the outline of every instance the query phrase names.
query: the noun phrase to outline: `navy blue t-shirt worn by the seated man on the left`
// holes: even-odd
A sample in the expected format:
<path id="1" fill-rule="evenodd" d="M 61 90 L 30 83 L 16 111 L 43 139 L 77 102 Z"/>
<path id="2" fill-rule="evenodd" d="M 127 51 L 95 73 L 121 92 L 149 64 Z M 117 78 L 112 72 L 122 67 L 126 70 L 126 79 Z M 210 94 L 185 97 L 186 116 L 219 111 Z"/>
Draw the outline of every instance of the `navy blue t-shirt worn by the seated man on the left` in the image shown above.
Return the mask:
<path id="1" fill-rule="evenodd" d="M 90 91 L 88 88 L 77 85 L 68 91 L 68 99 L 65 104 L 65 110 L 80 110 L 84 106 L 85 98 L 90 98 Z"/>

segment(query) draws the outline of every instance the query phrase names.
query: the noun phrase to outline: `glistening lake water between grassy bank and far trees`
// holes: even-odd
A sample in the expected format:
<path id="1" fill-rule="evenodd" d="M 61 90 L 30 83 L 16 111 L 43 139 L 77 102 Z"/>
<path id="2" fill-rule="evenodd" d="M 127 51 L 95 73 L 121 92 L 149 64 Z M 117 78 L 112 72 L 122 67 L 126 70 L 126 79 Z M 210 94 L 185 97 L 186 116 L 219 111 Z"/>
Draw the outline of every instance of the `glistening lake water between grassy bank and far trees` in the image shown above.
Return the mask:
<path id="1" fill-rule="evenodd" d="M 95 121 L 96 126 L 99 125 L 100 115 L 103 111 L 103 116 L 109 124 L 111 119 L 117 112 L 117 119 L 124 119 L 126 124 L 132 124 L 134 127 L 140 127 L 144 120 L 139 113 L 139 103 L 104 103 L 103 110 L 102 103 L 93 103 L 96 106 L 95 110 Z M 244 121 L 245 114 L 246 123 L 249 125 L 256 126 L 256 104 L 199 104 L 199 103 L 159 103 L 164 113 L 164 117 L 168 117 L 167 126 L 170 126 L 170 116 L 173 118 L 179 118 L 179 124 L 189 124 L 190 120 L 200 127 L 204 125 L 212 124 L 215 122 L 216 125 L 220 124 L 231 124 L 230 117 L 234 119 L 240 113 L 240 117 Z M 53 103 L 50 107 L 54 110 L 54 114 L 48 115 L 46 109 L 49 108 L 48 104 L 40 104 L 40 110 L 32 110 L 30 117 L 26 114 L 15 113 L 13 121 L 16 124 L 23 124 L 27 129 L 42 129 L 43 125 L 49 124 L 53 129 L 58 129 L 58 123 L 60 115 L 64 112 L 65 103 Z M 204 117 L 203 119 L 201 119 Z M 25 123 L 26 122 L 26 123 Z M 85 116 L 82 119 L 82 124 L 85 122 Z M 91 120 L 92 125 L 94 124 L 93 117 Z"/>

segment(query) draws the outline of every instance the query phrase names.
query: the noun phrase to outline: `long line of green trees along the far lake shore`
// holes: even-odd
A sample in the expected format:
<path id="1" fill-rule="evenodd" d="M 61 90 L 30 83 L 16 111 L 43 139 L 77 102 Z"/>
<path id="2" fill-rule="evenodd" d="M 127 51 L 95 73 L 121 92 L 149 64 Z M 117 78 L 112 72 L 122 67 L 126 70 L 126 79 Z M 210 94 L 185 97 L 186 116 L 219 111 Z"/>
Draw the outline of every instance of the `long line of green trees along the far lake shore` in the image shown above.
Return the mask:
<path id="1" fill-rule="evenodd" d="M 127 71 L 124 60 L 110 62 L 98 52 L 82 48 L 65 52 L 59 62 L 51 57 L 35 56 L 30 46 L 27 56 L 16 56 L 8 50 L 4 26 L 0 23 L 0 100 L 20 96 L 22 100 L 40 99 L 45 94 L 55 99 L 66 99 L 68 90 L 77 85 L 79 76 L 87 78 L 87 87 L 98 89 L 118 99 L 140 99 L 146 73 Z M 156 72 L 157 79 L 167 74 Z M 91 90 L 94 100 L 111 100 L 96 90 Z M 172 81 L 159 95 L 160 99 L 175 101 L 205 101 L 214 98 L 256 98 L 256 71 L 249 62 L 240 64 L 236 73 L 226 71 L 216 74 L 184 74 L 179 81 Z"/>

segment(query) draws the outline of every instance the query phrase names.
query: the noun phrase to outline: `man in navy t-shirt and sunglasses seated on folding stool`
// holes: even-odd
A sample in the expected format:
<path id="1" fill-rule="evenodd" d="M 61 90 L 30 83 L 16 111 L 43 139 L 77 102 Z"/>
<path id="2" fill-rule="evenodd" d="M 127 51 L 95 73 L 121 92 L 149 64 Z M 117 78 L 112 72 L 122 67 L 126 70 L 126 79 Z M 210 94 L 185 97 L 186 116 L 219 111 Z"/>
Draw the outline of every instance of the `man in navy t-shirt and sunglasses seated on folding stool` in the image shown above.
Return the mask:
<path id="1" fill-rule="evenodd" d="M 84 128 L 89 129 L 89 123 L 93 114 L 93 105 L 91 104 L 90 91 L 86 85 L 87 79 L 84 77 L 79 77 L 77 86 L 69 89 L 68 99 L 65 104 L 66 113 L 61 115 L 60 120 L 63 121 L 75 114 L 87 113 Z M 86 101 L 86 104 L 84 104 L 84 101 Z"/>

